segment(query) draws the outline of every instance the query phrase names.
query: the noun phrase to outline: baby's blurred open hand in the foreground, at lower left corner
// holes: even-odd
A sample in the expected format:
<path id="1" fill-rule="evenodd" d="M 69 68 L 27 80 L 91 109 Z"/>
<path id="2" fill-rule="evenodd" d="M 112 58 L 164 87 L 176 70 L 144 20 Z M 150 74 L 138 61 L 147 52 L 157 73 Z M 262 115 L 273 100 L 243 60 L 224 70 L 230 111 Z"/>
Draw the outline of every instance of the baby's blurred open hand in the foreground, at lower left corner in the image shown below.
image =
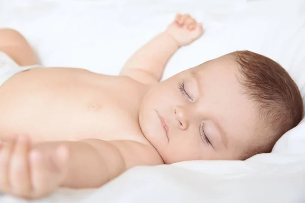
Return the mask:
<path id="1" fill-rule="evenodd" d="M 68 171 L 69 151 L 31 149 L 26 136 L 0 143 L 0 191 L 23 198 L 50 194 L 64 181 Z"/>

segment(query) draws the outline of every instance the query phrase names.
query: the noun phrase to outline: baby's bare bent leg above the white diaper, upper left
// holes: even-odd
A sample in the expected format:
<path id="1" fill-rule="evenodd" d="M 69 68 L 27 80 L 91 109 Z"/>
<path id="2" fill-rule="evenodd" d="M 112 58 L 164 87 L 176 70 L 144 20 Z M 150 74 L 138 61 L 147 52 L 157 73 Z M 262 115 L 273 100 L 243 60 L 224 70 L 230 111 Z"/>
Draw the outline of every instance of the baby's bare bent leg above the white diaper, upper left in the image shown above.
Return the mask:
<path id="1" fill-rule="evenodd" d="M 0 51 L 9 55 L 20 66 L 39 64 L 34 50 L 14 29 L 0 29 Z"/>

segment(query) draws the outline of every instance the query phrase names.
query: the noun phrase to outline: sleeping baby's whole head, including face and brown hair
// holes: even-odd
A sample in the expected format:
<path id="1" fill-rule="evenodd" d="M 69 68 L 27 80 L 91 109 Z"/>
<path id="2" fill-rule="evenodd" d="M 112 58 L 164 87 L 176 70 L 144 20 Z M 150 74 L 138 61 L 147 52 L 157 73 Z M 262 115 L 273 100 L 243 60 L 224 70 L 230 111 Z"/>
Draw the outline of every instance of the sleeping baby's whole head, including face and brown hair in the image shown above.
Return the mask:
<path id="1" fill-rule="evenodd" d="M 283 67 L 237 51 L 151 88 L 139 122 L 165 163 L 173 163 L 268 153 L 302 117 L 300 92 Z"/>

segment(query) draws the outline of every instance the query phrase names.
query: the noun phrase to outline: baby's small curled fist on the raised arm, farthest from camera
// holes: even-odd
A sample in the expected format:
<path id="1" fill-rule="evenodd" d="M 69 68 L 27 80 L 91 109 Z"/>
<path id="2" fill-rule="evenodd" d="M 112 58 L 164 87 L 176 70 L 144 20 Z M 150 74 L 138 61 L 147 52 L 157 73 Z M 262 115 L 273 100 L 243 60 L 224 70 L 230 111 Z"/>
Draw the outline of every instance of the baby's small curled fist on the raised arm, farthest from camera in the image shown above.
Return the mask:
<path id="1" fill-rule="evenodd" d="M 166 31 L 174 38 L 179 46 L 191 44 L 198 39 L 202 33 L 202 24 L 197 23 L 190 15 L 177 14 Z"/>

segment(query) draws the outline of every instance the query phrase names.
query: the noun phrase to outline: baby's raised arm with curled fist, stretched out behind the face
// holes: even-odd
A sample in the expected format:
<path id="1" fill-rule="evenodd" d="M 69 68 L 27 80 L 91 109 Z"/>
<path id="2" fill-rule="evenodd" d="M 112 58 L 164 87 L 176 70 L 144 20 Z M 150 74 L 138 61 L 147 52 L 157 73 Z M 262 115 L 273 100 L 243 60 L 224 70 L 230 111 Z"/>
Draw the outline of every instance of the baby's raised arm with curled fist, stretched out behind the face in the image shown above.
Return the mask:
<path id="1" fill-rule="evenodd" d="M 175 21 L 164 32 L 131 56 L 120 75 L 145 84 L 160 81 L 169 58 L 179 47 L 199 38 L 202 32 L 201 24 L 190 15 L 177 14 Z"/>

